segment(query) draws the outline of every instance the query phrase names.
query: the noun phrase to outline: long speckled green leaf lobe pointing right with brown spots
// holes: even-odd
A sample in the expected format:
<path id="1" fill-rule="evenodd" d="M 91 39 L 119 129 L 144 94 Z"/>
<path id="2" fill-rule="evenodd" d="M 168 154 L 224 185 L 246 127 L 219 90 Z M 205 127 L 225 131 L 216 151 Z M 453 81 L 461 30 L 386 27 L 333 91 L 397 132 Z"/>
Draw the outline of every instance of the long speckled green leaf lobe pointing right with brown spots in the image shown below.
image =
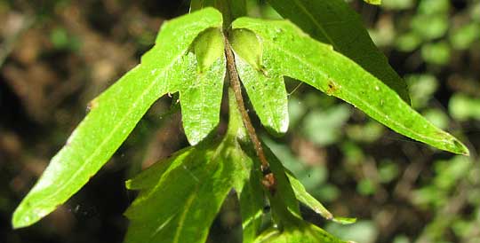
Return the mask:
<path id="1" fill-rule="evenodd" d="M 240 18 L 233 27 L 248 28 L 260 35 L 263 65 L 268 73 L 278 72 L 307 82 L 407 137 L 452 153 L 468 154 L 457 138 L 424 119 L 386 84 L 289 21 Z"/>

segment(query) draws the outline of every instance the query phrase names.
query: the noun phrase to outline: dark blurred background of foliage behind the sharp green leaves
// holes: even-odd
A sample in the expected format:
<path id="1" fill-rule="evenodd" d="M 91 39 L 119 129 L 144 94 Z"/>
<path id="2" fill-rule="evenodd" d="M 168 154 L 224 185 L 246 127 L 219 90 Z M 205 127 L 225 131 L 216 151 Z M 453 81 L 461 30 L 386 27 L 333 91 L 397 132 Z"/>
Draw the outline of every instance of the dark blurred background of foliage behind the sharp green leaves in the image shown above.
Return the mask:
<path id="1" fill-rule="evenodd" d="M 249 14 L 278 18 L 248 1 Z M 480 242 L 480 1 L 350 1 L 410 87 L 412 106 L 470 148 L 455 156 L 287 80 L 291 129 L 263 138 L 336 216 L 305 217 L 364 243 Z M 185 1 L 0 0 L 0 242 L 121 242 L 134 199 L 124 181 L 187 144 L 171 100 L 156 102 L 116 155 L 52 215 L 12 231 L 14 208 L 86 114 L 86 104 L 139 62 Z M 252 115 L 254 115 L 252 113 Z M 224 126 L 220 125 L 220 126 Z M 210 242 L 239 242 L 229 198 Z"/>

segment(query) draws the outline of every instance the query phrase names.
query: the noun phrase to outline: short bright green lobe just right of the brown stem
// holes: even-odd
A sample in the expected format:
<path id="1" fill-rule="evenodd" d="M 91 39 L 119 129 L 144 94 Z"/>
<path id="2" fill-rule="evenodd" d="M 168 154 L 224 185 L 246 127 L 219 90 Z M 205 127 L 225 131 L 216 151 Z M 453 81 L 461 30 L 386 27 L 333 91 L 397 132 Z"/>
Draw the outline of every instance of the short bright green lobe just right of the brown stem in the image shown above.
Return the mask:
<path id="1" fill-rule="evenodd" d="M 262 69 L 261 43 L 248 29 L 234 29 L 230 35 L 236 54 L 236 70 L 260 122 L 274 135 L 288 129 L 288 99 L 281 74 Z"/>

